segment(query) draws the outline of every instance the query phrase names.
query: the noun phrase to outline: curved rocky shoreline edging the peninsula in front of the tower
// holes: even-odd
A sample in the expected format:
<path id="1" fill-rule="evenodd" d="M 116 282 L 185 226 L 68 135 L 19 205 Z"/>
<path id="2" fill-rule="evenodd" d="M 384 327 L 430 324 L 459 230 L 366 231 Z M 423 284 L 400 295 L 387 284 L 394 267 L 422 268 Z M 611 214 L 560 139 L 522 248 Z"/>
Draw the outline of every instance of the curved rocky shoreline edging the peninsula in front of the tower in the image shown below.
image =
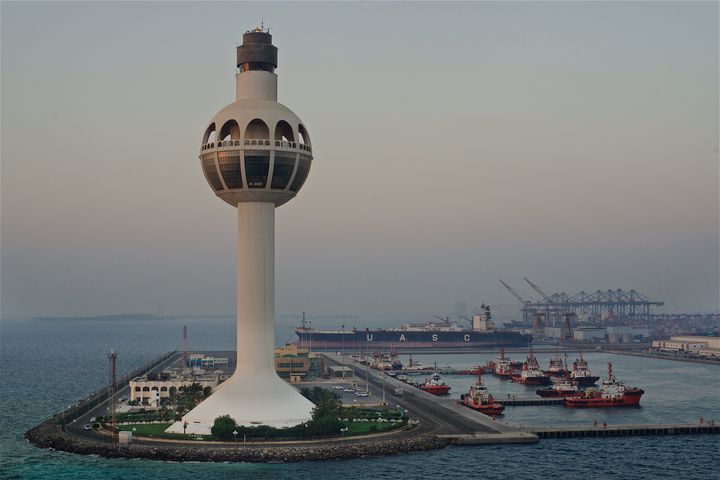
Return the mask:
<path id="1" fill-rule="evenodd" d="M 371 440 L 362 443 L 329 441 L 318 446 L 219 448 L 212 446 L 116 445 L 71 435 L 55 418 L 28 430 L 25 438 L 40 448 L 105 458 L 142 458 L 173 462 L 289 463 L 343 460 L 445 448 L 450 441 L 434 435 L 408 439 Z"/>

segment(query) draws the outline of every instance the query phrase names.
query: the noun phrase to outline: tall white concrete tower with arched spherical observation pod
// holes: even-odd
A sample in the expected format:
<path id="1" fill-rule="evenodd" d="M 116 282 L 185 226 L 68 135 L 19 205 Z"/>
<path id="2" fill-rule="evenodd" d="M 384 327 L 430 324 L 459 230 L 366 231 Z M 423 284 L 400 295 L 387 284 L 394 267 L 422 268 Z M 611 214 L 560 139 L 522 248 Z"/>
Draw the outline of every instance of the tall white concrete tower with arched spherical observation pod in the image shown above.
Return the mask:
<path id="1" fill-rule="evenodd" d="M 215 418 L 297 425 L 314 405 L 275 373 L 275 208 L 300 190 L 312 163 L 304 124 L 277 102 L 277 48 L 262 29 L 237 47 L 236 101 L 203 136 L 200 161 L 215 194 L 237 207 L 237 368 L 168 431 L 210 433 Z"/>

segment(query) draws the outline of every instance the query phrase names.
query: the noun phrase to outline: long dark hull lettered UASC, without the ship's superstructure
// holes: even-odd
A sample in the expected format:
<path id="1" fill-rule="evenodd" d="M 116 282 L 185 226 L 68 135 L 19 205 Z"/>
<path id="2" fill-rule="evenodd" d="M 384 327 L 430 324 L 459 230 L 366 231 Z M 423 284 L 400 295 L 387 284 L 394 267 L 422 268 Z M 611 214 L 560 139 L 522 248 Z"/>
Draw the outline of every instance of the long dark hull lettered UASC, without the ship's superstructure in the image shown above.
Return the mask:
<path id="1" fill-rule="evenodd" d="M 527 347 L 532 337 L 518 332 L 495 331 L 322 331 L 298 328 L 298 346 L 313 350 L 467 350 Z"/>

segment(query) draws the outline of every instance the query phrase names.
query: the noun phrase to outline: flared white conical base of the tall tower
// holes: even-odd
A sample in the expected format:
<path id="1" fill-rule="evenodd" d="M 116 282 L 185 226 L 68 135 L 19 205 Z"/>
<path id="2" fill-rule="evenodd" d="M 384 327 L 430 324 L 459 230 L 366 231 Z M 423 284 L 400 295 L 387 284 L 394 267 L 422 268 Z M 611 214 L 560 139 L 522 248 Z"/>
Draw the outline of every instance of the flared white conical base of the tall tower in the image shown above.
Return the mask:
<path id="1" fill-rule="evenodd" d="M 310 400 L 275 372 L 233 375 L 165 431 L 210 435 L 215 419 L 222 415 L 230 415 L 238 425 L 247 427 L 291 427 L 310 420 L 313 408 Z"/>

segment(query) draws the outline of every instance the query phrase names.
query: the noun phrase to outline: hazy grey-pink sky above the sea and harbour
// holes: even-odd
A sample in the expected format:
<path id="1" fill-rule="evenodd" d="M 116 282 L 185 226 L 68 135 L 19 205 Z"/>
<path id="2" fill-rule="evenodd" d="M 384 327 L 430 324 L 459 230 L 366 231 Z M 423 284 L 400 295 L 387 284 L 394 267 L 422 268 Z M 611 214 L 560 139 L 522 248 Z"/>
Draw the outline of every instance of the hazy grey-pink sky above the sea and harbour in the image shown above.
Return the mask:
<path id="1" fill-rule="evenodd" d="M 222 314 L 235 210 L 197 158 L 261 15 L 315 160 L 277 311 L 718 309 L 718 3 L 2 2 L 2 314 Z M 535 295 L 537 297 L 537 295 Z"/>

